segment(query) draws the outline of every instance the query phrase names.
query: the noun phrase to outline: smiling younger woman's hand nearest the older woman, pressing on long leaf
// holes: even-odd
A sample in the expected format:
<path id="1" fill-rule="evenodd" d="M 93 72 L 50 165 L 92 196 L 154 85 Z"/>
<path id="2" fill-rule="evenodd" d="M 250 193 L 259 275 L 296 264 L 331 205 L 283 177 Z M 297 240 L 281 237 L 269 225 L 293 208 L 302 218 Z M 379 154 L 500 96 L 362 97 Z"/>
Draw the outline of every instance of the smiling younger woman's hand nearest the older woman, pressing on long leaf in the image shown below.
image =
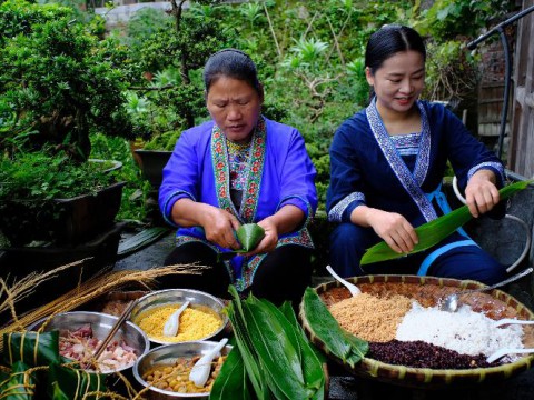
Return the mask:
<path id="1" fill-rule="evenodd" d="M 360 206 L 350 217 L 354 223 L 373 228 L 397 253 L 408 253 L 418 243 L 414 227 L 399 213 Z"/>

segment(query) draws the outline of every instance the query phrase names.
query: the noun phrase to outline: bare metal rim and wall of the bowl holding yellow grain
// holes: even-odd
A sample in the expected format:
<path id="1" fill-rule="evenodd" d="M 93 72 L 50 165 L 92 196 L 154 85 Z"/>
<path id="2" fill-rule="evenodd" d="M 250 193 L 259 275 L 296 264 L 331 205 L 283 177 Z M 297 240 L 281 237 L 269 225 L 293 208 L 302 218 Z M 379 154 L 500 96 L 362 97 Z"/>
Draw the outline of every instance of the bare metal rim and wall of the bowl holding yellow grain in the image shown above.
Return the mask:
<path id="1" fill-rule="evenodd" d="M 219 316 L 222 321 L 220 328 L 217 329 L 211 334 L 208 334 L 204 338 L 198 338 L 196 340 L 189 340 L 188 342 L 216 338 L 228 324 L 228 316 L 222 312 L 222 309 L 225 308 L 225 304 L 222 303 L 222 301 L 220 301 L 219 299 L 217 299 L 216 297 L 209 293 L 206 293 L 199 290 L 191 290 L 191 289 L 158 290 L 141 297 L 137 301 L 137 304 L 131 310 L 130 320 L 134 321 L 135 323 L 139 323 L 140 317 L 150 309 L 155 309 L 164 306 L 177 304 L 177 303 L 181 304 L 185 301 L 189 301 L 189 307 L 191 308 L 196 308 L 200 310 L 206 308 L 210 309 L 217 316 Z M 148 339 L 152 343 L 157 343 L 157 344 L 171 343 L 170 341 L 158 340 L 156 338 L 150 337 L 149 334 L 148 334 Z M 186 341 L 182 341 L 182 342 L 186 342 Z"/>

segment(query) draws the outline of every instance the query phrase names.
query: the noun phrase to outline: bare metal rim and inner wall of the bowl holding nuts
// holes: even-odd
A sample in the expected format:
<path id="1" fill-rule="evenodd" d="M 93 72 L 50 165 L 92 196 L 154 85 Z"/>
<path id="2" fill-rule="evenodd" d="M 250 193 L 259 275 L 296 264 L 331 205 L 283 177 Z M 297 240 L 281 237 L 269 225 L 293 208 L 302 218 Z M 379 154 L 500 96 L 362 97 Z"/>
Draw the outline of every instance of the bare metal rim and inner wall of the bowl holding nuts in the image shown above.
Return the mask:
<path id="1" fill-rule="evenodd" d="M 177 359 L 192 358 L 209 352 L 217 342 L 215 341 L 196 341 L 165 344 L 157 347 L 142 357 L 140 357 L 134 366 L 132 372 L 136 380 L 144 387 L 148 388 L 148 399 L 167 400 L 167 399 L 208 399 L 209 392 L 206 393 L 177 393 L 162 390 L 150 386 L 142 377 L 155 367 L 174 366 Z M 220 351 L 222 356 L 227 356 L 231 350 L 231 346 L 225 346 Z"/>

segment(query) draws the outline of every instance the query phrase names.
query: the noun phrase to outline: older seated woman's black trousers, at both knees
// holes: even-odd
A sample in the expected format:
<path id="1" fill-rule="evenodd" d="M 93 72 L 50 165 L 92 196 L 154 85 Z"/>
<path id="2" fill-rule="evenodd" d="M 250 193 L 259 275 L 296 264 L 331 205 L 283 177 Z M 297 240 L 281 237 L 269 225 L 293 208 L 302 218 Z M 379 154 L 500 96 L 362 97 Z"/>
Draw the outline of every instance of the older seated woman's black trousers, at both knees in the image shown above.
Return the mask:
<path id="1" fill-rule="evenodd" d="M 279 306 L 290 300 L 294 306 L 300 302 L 304 290 L 312 282 L 312 250 L 301 246 L 286 244 L 275 249 L 264 258 L 256 270 L 253 284 L 247 291 L 258 298 Z M 216 297 L 228 299 L 230 277 L 222 262 L 217 262 L 217 253 L 201 242 L 190 242 L 177 247 L 165 260 L 166 266 L 197 263 L 206 266 L 200 274 L 172 274 L 160 278 L 164 288 L 197 289 Z"/>

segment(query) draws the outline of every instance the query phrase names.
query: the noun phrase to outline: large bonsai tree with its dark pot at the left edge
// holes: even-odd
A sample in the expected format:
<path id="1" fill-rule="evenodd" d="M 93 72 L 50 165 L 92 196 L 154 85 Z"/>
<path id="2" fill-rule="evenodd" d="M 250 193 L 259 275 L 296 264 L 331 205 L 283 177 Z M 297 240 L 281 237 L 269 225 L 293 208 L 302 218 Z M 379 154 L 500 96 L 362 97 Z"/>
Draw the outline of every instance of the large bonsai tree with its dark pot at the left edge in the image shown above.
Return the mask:
<path id="1" fill-rule="evenodd" d="M 0 220 L 9 221 L 0 229 L 16 246 L 34 240 L 76 246 L 109 229 L 120 204 L 123 183 L 88 166 L 89 136 L 130 134 L 125 107 L 128 70 L 120 67 L 130 63 L 125 48 L 96 34 L 103 29 L 103 20 L 83 24 L 73 16 L 72 9 L 58 4 L 0 3 Z M 97 189 L 109 187 L 113 200 L 97 200 Z M 80 192 L 85 189 L 90 190 Z M 71 209 L 80 217 L 80 209 L 68 207 L 65 199 L 82 194 L 89 196 L 81 206 L 86 217 L 70 220 L 65 211 Z M 53 199 L 61 200 L 55 200 L 50 209 L 44 207 Z M 26 207 L 16 211 L 11 208 L 14 200 Z M 28 206 L 31 200 L 37 206 Z M 99 203 L 107 210 L 88 209 Z M 42 227 L 36 226 L 40 219 L 31 216 L 32 210 L 46 221 Z M 33 238 L 14 234 L 16 228 L 27 227 L 26 222 L 13 223 L 14 217 L 27 222 L 33 219 L 31 231 L 40 233 Z M 81 220 L 89 223 L 88 230 L 77 226 Z M 59 228 L 70 232 L 51 232 Z"/>

